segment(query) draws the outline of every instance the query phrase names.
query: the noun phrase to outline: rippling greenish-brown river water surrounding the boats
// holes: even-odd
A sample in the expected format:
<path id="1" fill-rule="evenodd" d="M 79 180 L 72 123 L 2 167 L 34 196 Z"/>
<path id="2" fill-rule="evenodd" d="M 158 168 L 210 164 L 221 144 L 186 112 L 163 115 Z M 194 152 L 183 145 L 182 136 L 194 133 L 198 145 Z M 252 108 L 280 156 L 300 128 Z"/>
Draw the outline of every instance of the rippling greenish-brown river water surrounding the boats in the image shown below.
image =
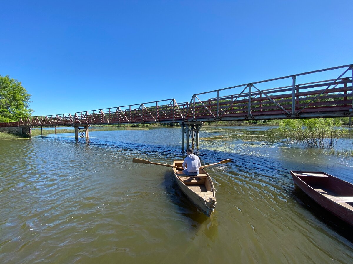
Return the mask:
<path id="1" fill-rule="evenodd" d="M 178 127 L 0 141 L 0 263 L 352 263 L 352 227 L 289 170 L 353 182 L 353 158 L 284 144 L 268 127 L 204 127 L 197 155 L 217 190 L 199 213 L 172 170 Z M 351 137 L 352 138 L 352 137 Z M 352 150 L 352 139 L 336 150 Z"/>

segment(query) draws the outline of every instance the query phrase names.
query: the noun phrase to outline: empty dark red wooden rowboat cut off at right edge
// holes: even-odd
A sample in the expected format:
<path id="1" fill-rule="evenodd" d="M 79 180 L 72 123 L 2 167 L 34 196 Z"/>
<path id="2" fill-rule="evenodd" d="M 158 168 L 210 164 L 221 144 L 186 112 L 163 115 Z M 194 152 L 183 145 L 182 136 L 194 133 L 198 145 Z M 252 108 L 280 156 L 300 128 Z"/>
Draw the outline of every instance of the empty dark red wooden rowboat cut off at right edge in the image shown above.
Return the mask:
<path id="1" fill-rule="evenodd" d="M 319 171 L 291 171 L 294 183 L 323 208 L 353 225 L 353 184 Z"/>

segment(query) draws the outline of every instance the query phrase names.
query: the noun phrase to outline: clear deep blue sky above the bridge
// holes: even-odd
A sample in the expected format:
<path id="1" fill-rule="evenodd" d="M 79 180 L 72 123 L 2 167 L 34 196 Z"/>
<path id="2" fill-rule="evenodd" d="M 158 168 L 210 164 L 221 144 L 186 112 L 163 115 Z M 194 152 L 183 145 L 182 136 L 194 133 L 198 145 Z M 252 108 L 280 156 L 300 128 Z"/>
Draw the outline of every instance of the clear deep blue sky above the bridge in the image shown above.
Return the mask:
<path id="1" fill-rule="evenodd" d="M 353 63 L 352 0 L 1 1 L 0 75 L 35 115 L 175 98 Z"/>

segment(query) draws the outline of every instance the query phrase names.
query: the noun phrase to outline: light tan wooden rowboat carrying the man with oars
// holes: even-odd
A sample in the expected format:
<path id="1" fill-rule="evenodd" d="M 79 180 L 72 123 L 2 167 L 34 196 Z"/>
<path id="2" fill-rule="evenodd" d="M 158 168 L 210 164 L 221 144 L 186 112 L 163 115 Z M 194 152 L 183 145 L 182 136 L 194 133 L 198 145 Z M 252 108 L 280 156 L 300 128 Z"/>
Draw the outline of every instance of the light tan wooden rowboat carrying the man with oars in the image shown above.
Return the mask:
<path id="1" fill-rule="evenodd" d="M 183 167 L 183 161 L 174 161 L 173 165 Z M 173 168 L 180 189 L 198 209 L 210 217 L 216 207 L 215 188 L 210 175 L 204 169 L 200 169 L 197 176 L 176 174 L 177 170 Z"/>

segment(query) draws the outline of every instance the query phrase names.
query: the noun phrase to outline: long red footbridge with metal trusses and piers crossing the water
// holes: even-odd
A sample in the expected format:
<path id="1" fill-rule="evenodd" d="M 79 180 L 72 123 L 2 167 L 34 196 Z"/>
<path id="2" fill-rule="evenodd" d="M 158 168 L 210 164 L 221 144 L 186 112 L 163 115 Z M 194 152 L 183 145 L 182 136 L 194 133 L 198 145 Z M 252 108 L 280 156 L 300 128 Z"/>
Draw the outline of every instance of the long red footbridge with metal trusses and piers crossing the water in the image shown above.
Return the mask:
<path id="1" fill-rule="evenodd" d="M 20 118 L 0 127 L 74 126 L 75 137 L 90 125 L 179 122 L 182 146 L 193 145 L 203 122 L 352 117 L 353 64 L 194 94 L 189 102 L 167 99 L 71 114 Z M 276 88 L 274 88 L 276 87 Z M 239 92 L 241 91 L 241 92 Z M 83 130 L 80 130 L 80 127 Z"/>

